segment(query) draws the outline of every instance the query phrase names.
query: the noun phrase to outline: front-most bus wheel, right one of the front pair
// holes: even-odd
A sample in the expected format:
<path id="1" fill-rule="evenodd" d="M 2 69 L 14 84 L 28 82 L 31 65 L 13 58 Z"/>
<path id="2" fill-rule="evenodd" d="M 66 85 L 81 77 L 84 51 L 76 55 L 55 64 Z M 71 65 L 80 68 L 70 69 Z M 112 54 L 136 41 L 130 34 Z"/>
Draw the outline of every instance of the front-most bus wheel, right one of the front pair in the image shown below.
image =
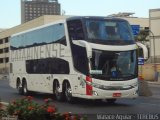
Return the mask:
<path id="1" fill-rule="evenodd" d="M 72 89 L 71 89 L 71 85 L 69 84 L 69 82 L 65 82 L 65 99 L 68 102 L 73 102 Z"/>

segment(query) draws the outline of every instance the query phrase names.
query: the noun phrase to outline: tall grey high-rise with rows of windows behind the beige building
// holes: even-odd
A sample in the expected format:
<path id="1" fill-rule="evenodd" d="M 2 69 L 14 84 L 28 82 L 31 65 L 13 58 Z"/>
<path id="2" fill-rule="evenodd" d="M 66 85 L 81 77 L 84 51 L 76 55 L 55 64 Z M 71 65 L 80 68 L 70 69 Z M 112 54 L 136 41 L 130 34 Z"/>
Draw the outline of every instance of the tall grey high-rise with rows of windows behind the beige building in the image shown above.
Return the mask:
<path id="1" fill-rule="evenodd" d="M 21 23 L 42 15 L 60 15 L 58 0 L 21 0 Z"/>

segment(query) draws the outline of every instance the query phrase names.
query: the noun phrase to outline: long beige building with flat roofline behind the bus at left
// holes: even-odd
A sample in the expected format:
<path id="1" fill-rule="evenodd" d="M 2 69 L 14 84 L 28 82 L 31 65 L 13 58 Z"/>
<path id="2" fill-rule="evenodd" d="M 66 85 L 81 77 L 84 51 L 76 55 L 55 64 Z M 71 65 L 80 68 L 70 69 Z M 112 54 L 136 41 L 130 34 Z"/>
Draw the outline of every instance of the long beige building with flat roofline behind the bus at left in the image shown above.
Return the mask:
<path id="1" fill-rule="evenodd" d="M 0 32 L 0 74 L 8 73 L 9 71 L 9 37 L 11 35 L 66 17 L 68 16 L 44 15 L 37 19 Z"/>

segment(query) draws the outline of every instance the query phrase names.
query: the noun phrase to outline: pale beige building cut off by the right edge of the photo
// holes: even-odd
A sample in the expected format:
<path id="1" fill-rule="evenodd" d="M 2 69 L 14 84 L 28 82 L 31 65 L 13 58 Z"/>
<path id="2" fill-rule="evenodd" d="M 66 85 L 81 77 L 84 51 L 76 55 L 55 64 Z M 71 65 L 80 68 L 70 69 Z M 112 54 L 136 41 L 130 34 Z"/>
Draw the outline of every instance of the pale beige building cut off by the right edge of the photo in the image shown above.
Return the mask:
<path id="1" fill-rule="evenodd" d="M 160 9 L 149 10 L 151 62 L 160 63 Z"/>

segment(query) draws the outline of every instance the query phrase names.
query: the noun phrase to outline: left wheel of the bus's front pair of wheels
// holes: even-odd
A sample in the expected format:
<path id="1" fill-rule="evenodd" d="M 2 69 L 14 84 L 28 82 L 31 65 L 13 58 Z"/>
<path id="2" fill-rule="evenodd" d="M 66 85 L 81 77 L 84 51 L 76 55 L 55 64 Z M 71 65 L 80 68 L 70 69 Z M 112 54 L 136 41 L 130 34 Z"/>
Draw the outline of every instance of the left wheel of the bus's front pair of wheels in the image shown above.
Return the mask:
<path id="1" fill-rule="evenodd" d="M 63 100 L 63 94 L 62 94 L 62 92 L 60 92 L 59 89 L 60 89 L 59 82 L 58 82 L 58 80 L 55 80 L 54 83 L 53 83 L 53 92 L 54 92 L 56 100 L 62 101 Z"/>

